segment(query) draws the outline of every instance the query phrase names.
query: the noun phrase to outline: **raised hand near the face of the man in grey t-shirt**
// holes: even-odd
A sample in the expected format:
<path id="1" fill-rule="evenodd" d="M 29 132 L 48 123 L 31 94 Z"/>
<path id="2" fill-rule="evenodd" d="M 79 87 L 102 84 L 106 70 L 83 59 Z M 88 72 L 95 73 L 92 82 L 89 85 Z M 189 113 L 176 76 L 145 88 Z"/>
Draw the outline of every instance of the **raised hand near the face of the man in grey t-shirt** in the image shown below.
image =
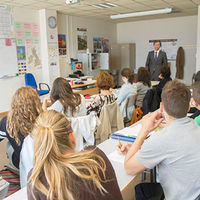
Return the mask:
<path id="1" fill-rule="evenodd" d="M 157 128 L 163 121 L 162 114 L 160 112 L 153 112 L 145 115 L 142 119 L 142 130 L 147 135 Z"/>

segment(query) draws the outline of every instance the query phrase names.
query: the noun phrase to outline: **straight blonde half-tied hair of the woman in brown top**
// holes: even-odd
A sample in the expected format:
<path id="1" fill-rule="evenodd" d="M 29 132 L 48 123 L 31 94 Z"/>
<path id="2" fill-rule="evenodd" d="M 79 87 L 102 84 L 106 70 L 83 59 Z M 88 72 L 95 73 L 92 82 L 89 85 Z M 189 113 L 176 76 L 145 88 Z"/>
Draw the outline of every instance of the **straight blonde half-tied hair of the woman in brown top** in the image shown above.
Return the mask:
<path id="1" fill-rule="evenodd" d="M 70 140 L 73 130 L 66 116 L 54 110 L 41 113 L 33 129 L 34 168 L 29 178 L 32 191 L 37 189 L 48 200 L 74 200 L 72 191 L 72 173 L 92 181 L 93 186 L 104 194 L 106 190 L 101 182 L 106 180 L 106 165 L 103 158 L 94 150 L 74 152 L 74 144 Z M 101 178 L 103 175 L 103 178 Z M 41 181 L 42 175 L 47 185 Z M 91 188 L 87 182 L 88 192 Z M 94 190 L 93 190 L 94 191 Z M 34 194 L 33 194 L 34 196 Z"/>

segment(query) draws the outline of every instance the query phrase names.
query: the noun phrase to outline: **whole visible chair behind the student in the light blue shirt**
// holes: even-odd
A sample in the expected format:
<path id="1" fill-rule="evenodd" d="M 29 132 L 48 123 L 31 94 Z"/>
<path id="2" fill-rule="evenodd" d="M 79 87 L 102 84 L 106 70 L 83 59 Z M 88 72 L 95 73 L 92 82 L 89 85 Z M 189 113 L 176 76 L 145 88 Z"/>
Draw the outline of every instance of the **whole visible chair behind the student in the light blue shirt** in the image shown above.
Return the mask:
<path id="1" fill-rule="evenodd" d="M 136 96 L 137 94 L 131 94 L 126 98 L 125 104 L 124 104 L 124 109 L 122 113 L 124 112 L 125 116 L 124 117 L 124 125 L 127 123 L 130 123 L 131 118 L 133 116 L 133 112 L 135 110 L 135 101 L 136 101 Z"/>

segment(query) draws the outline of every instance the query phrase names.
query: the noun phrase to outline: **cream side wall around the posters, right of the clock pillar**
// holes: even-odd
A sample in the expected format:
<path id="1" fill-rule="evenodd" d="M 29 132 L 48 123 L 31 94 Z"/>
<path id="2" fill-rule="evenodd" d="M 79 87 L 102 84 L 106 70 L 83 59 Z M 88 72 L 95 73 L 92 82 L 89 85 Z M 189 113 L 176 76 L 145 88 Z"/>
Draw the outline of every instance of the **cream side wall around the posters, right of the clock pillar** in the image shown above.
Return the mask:
<path id="1" fill-rule="evenodd" d="M 64 77 L 71 73 L 71 66 L 68 64 L 69 59 L 77 57 L 77 28 L 87 28 L 90 52 L 93 52 L 93 37 L 104 37 L 109 39 L 110 44 L 116 43 L 116 24 L 103 20 L 58 14 L 58 33 L 66 34 L 67 37 L 67 56 L 60 57 L 60 73 Z"/>

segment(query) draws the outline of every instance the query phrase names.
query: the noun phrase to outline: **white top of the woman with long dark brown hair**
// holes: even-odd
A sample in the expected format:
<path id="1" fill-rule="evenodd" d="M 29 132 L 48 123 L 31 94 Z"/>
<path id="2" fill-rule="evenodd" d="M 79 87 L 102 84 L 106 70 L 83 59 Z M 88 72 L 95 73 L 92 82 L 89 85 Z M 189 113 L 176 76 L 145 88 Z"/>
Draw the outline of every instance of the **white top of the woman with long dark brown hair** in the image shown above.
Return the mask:
<path id="1" fill-rule="evenodd" d="M 65 114 L 67 117 L 80 117 L 85 116 L 87 113 L 85 98 L 83 95 L 81 95 L 81 104 L 76 108 L 76 111 L 74 112 L 73 116 L 71 110 L 67 110 L 67 112 L 64 113 L 64 107 L 59 100 L 54 102 L 54 104 L 48 107 L 47 110 L 55 110 L 57 112 Z"/>

